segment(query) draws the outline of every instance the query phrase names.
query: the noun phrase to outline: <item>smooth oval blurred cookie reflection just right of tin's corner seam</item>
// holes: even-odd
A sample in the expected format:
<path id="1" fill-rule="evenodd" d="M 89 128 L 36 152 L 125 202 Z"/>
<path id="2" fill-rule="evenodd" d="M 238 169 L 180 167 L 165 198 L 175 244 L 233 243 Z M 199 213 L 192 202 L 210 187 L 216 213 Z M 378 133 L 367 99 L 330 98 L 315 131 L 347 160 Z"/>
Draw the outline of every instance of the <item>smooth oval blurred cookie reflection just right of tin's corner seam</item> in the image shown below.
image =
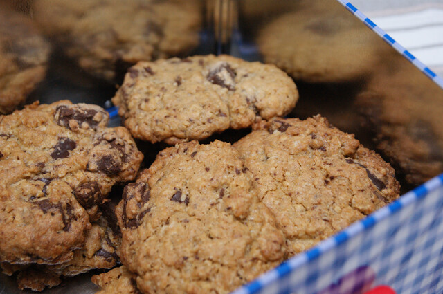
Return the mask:
<path id="1" fill-rule="evenodd" d="M 383 42 L 337 1 L 316 3 L 266 24 L 257 37 L 264 61 L 305 82 L 349 82 L 368 75 Z"/>

